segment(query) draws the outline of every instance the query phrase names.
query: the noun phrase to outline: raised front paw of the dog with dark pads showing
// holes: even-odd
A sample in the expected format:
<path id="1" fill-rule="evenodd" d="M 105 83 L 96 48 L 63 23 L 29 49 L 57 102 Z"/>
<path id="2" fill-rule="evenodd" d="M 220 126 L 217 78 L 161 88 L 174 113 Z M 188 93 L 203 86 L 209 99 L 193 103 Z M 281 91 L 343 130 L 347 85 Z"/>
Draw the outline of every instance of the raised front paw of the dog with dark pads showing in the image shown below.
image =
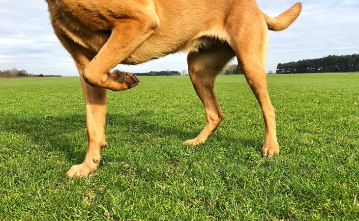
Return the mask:
<path id="1" fill-rule="evenodd" d="M 114 91 L 127 90 L 140 83 L 140 80 L 136 77 L 136 75 L 122 71 L 115 71 L 111 73 L 109 75 L 109 79 L 115 83 L 115 85 L 109 88 Z"/>

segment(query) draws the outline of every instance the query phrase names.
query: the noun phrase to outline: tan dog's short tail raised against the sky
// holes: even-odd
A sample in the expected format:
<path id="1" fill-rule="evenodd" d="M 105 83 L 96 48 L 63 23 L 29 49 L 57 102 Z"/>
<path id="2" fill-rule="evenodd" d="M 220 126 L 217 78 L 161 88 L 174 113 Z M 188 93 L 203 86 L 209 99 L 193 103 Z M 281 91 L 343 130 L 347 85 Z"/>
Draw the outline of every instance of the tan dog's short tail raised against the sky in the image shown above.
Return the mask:
<path id="1" fill-rule="evenodd" d="M 288 28 L 299 17 L 301 3 L 297 2 L 290 9 L 280 14 L 278 17 L 271 18 L 263 13 L 269 30 L 281 31 Z"/>

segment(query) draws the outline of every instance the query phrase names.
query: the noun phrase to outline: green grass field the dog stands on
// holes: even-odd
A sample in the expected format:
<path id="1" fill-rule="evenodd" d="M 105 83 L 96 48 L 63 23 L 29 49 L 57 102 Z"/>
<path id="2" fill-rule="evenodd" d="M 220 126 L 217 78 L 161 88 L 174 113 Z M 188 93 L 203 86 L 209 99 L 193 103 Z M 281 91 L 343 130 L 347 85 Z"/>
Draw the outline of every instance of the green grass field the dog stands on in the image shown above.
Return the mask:
<path id="1" fill-rule="evenodd" d="M 243 76 L 220 76 L 205 123 L 188 77 L 108 93 L 99 169 L 64 174 L 87 148 L 79 78 L 0 80 L 0 220 L 358 220 L 359 74 L 270 75 L 278 157 Z"/>

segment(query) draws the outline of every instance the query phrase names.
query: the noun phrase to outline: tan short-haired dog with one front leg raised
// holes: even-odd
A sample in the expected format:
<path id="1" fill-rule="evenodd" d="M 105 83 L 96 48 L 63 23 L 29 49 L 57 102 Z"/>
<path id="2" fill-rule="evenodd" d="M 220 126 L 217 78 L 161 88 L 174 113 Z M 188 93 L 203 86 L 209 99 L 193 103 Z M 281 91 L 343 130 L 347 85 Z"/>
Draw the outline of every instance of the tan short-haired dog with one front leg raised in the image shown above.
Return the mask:
<path id="1" fill-rule="evenodd" d="M 266 81 L 268 29 L 288 28 L 301 3 L 270 18 L 255 0 L 46 0 L 52 25 L 79 69 L 86 102 L 89 147 L 85 161 L 68 177 L 96 170 L 105 140 L 106 89 L 126 90 L 138 79 L 110 70 L 140 64 L 179 51 L 188 52 L 188 71 L 206 109 L 207 122 L 198 145 L 217 129 L 222 111 L 213 90 L 216 76 L 234 57 L 262 108 L 263 156 L 279 153 L 274 109 Z"/>

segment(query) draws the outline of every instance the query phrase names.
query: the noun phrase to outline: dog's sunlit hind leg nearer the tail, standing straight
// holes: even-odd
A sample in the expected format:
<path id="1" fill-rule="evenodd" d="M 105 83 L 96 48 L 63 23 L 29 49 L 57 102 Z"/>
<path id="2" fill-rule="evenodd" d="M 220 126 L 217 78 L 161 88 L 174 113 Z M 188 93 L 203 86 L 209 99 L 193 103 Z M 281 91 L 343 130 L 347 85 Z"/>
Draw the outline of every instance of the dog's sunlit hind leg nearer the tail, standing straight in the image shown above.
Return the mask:
<path id="1" fill-rule="evenodd" d="M 238 30 L 243 32 L 241 33 Z M 267 89 L 267 24 L 264 19 L 249 19 L 244 30 L 234 25 L 229 28 L 229 33 L 231 33 L 232 37 L 230 44 L 238 57 L 239 67 L 244 72 L 247 83 L 257 98 L 263 112 L 265 138 L 262 155 L 264 157 L 272 157 L 279 153 L 279 147 L 276 136 L 274 108 L 270 103 Z"/>

